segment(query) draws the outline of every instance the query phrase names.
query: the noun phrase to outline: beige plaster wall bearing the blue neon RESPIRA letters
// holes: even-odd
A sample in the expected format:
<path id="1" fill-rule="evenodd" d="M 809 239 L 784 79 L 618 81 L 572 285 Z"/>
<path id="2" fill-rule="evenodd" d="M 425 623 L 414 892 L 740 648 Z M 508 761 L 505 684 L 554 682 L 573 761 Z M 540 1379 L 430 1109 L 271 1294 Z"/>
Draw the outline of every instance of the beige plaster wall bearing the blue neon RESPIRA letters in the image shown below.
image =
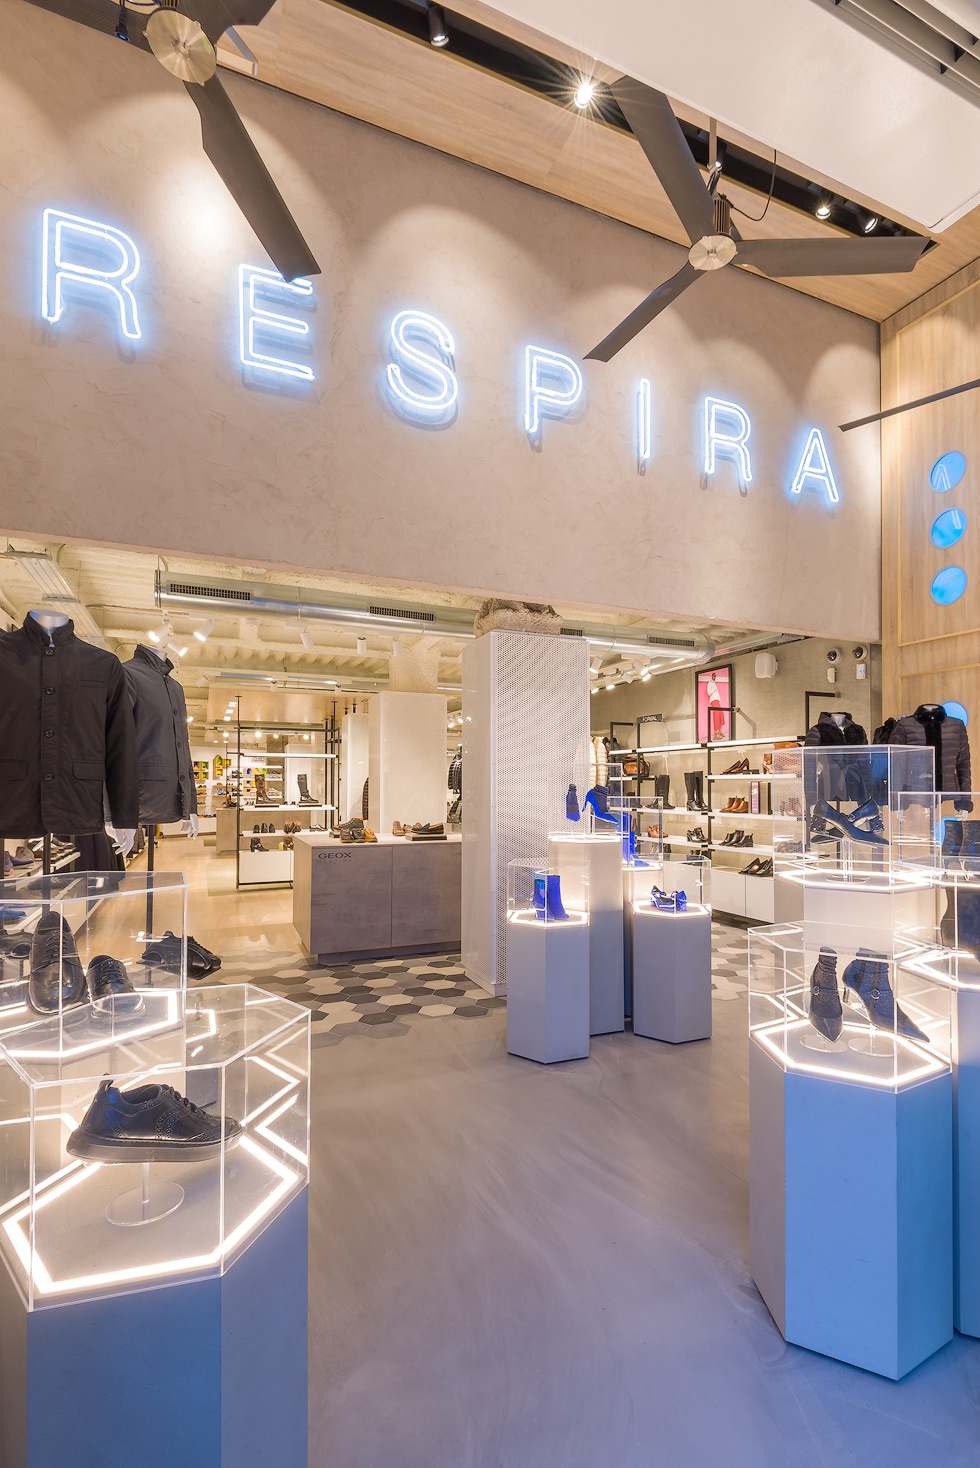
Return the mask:
<path id="1" fill-rule="evenodd" d="M 238 272 L 267 260 L 185 90 L 153 56 L 21 0 L 0 0 L 0 23 L 4 528 L 877 637 L 877 437 L 836 432 L 877 408 L 873 323 L 731 269 L 613 363 L 584 363 L 678 270 L 679 247 L 223 73 L 323 267 L 307 316 L 314 379 L 263 377 L 241 361 Z M 138 245 L 138 341 L 107 297 L 43 320 L 45 207 Z M 409 424 L 384 395 L 390 321 L 409 307 L 453 336 L 459 401 L 445 424 Z M 522 421 L 528 345 L 571 355 L 585 379 L 575 417 L 546 421 L 538 443 Z M 706 395 L 751 418 L 741 492 L 729 461 L 703 477 Z M 819 486 L 791 492 L 811 427 L 836 505 Z"/>

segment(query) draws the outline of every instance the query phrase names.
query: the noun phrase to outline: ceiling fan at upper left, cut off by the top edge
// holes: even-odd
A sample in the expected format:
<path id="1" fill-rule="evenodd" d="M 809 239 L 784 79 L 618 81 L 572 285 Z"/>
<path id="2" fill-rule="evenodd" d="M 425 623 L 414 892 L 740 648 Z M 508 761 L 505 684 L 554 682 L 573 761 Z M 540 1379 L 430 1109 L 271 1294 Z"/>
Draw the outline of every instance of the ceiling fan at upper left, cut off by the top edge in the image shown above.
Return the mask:
<path id="1" fill-rule="evenodd" d="M 186 87 L 201 115 L 204 151 L 285 280 L 320 275 L 310 245 L 217 75 L 214 47 L 229 26 L 258 25 L 274 0 L 180 0 L 139 10 L 125 0 L 31 0 L 69 21 L 129 41 Z"/>

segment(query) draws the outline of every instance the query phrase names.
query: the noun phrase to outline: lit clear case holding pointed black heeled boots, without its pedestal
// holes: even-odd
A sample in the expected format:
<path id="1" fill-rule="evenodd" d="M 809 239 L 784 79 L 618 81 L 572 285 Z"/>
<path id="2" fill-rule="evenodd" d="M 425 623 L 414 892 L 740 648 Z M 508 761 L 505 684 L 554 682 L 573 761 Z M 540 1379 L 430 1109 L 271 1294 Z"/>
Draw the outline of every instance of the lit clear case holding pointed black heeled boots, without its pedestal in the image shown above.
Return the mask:
<path id="1" fill-rule="evenodd" d="M 833 940 L 833 941 L 830 941 Z M 783 1070 L 899 1089 L 949 1069 L 951 995 L 921 945 L 820 923 L 748 934 L 751 1036 Z"/>

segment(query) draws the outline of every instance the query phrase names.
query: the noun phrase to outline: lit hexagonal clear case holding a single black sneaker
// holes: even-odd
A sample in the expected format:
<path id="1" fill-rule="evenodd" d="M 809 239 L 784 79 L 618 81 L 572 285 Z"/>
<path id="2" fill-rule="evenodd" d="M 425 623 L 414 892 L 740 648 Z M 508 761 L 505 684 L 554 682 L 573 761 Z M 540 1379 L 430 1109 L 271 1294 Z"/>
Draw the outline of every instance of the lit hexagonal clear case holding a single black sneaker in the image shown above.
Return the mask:
<path id="1" fill-rule="evenodd" d="M 0 1254 L 28 1309 L 223 1274 L 307 1183 L 308 1011 L 249 984 L 132 998 L 0 1039 Z M 125 1104 L 178 1094 L 142 1142 L 94 1120 L 110 1078 Z M 197 1151 L 188 1102 L 226 1119 Z"/>

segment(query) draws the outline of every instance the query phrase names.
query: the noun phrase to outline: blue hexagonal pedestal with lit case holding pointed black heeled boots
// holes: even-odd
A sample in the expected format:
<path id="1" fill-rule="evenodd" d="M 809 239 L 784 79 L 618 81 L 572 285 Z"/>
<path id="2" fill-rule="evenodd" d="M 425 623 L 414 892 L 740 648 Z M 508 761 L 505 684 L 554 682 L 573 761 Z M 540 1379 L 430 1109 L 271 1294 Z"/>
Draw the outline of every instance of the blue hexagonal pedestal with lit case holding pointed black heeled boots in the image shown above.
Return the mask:
<path id="1" fill-rule="evenodd" d="M 753 1279 L 786 1340 L 893 1380 L 954 1329 L 949 989 L 915 954 L 750 931 Z M 869 1246 L 829 1267 L 835 1238 Z"/>

